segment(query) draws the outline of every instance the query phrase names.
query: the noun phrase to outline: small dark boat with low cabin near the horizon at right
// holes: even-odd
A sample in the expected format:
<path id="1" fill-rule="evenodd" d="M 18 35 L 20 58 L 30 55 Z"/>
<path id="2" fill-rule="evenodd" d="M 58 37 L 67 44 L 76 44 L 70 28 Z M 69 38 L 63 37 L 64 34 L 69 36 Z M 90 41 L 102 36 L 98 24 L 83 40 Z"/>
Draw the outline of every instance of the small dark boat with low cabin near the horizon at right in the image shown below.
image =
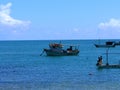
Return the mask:
<path id="1" fill-rule="evenodd" d="M 115 47 L 116 43 L 113 41 L 107 41 L 105 44 L 94 44 L 97 48 L 109 48 L 109 47 Z"/>

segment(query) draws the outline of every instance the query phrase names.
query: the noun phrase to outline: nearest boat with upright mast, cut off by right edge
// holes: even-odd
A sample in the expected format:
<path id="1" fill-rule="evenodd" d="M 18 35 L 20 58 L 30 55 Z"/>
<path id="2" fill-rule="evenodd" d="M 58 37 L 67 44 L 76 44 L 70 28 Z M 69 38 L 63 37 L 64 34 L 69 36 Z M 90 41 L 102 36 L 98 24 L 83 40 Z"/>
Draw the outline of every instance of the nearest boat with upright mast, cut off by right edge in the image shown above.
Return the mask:
<path id="1" fill-rule="evenodd" d="M 107 50 L 106 50 L 106 64 L 102 64 L 102 58 L 98 57 L 98 61 L 97 61 L 96 66 L 98 67 L 98 69 L 120 68 L 120 64 L 109 64 L 109 62 L 108 62 L 108 50 L 109 50 L 109 48 L 107 48 Z"/>

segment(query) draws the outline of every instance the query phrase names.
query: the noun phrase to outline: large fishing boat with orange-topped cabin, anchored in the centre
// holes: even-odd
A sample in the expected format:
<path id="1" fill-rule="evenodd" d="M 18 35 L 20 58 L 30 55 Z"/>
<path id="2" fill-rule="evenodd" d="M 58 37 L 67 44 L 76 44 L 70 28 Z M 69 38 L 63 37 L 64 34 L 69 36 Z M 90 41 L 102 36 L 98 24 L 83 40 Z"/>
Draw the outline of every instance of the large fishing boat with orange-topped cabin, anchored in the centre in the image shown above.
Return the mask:
<path id="1" fill-rule="evenodd" d="M 51 43 L 49 49 L 44 49 L 44 51 L 47 56 L 71 56 L 79 53 L 76 45 L 69 45 L 67 49 L 64 49 L 61 43 Z"/>

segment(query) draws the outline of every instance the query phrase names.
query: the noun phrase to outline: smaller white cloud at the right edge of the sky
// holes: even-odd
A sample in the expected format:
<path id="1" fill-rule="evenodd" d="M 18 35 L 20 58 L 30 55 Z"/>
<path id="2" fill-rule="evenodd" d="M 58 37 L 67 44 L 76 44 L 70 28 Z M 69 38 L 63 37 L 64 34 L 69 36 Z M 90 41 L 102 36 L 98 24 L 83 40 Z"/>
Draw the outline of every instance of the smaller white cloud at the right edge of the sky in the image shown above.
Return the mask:
<path id="1" fill-rule="evenodd" d="M 120 28 L 120 19 L 110 19 L 108 22 L 102 22 L 98 25 L 99 29 Z"/>

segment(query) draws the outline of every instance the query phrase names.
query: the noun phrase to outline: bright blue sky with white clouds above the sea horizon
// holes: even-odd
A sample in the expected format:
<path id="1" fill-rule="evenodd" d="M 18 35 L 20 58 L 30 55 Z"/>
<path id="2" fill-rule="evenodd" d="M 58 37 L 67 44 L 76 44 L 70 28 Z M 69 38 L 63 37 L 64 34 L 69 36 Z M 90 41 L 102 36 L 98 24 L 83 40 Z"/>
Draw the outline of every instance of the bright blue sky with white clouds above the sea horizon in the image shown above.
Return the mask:
<path id="1" fill-rule="evenodd" d="M 0 0 L 0 40 L 120 39 L 120 0 Z"/>

